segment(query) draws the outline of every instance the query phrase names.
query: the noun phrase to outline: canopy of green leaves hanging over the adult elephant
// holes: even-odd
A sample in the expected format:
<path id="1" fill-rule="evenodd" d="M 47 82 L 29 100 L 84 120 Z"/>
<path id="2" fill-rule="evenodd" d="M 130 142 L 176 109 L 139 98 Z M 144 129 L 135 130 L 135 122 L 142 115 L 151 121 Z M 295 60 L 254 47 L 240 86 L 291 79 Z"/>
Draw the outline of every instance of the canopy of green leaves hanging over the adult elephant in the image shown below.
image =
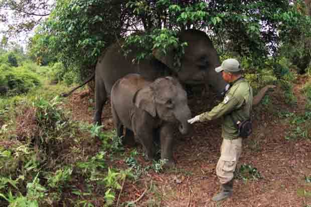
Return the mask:
<path id="1" fill-rule="evenodd" d="M 310 37 L 310 23 L 301 1 L 59 0 L 32 47 L 83 73 L 93 70 L 101 52 L 120 38 L 143 47 L 145 53 L 137 55 L 145 58 L 152 48 L 165 53 L 169 47 L 186 47 L 178 31 L 195 28 L 206 31 L 220 53 L 261 64 L 281 43 L 300 34 Z M 128 36 L 132 33 L 139 35 Z"/>

